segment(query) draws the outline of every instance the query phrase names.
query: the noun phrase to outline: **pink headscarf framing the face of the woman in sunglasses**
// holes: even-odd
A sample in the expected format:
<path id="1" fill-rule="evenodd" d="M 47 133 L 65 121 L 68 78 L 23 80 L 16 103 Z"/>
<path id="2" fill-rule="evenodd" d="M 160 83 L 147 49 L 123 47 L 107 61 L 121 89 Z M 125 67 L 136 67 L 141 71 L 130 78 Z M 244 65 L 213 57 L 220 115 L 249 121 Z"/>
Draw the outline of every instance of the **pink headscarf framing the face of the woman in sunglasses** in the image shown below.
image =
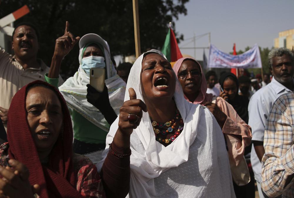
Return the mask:
<path id="1" fill-rule="evenodd" d="M 202 78 L 201 78 L 200 92 L 199 92 L 197 98 L 194 100 L 193 104 L 204 105 L 206 102 L 211 102 L 213 95 L 212 94 L 206 94 L 207 82 L 206 82 L 206 79 L 205 79 L 205 75 L 202 72 L 201 65 L 195 59 L 190 58 L 190 57 L 183 57 L 181 59 L 178 59 L 176 61 L 176 63 L 173 65 L 173 71 L 175 71 L 176 76 L 178 77 L 178 71 L 179 71 L 179 69 L 181 67 L 181 64 L 183 63 L 184 60 L 187 60 L 187 59 L 191 59 L 191 60 L 195 61 L 199 65 L 200 70 L 201 70 L 201 74 L 202 74 L 201 75 Z M 185 96 L 185 93 L 184 93 L 184 97 L 188 102 L 190 102 L 189 99 Z"/>

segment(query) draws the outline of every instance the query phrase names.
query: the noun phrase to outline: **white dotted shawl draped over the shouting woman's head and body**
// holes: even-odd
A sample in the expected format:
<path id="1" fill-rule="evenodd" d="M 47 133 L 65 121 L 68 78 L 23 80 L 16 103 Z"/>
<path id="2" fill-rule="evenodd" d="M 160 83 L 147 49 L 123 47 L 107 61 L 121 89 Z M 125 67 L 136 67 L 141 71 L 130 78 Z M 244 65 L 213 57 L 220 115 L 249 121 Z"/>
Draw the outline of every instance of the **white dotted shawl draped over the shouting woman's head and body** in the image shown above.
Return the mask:
<path id="1" fill-rule="evenodd" d="M 160 51 L 153 49 L 148 52 L 151 51 L 165 58 Z M 128 89 L 133 88 L 136 91 L 137 99 L 141 99 L 144 102 L 140 83 L 142 60 L 143 54 L 132 66 L 130 77 L 128 78 L 125 101 L 130 99 Z M 139 126 L 134 129 L 131 134 L 131 182 L 127 197 L 174 197 L 174 195 L 169 195 L 164 192 L 164 190 L 162 188 L 160 189 L 157 185 L 158 183 L 166 184 L 166 180 L 169 180 L 169 178 L 161 177 L 161 175 L 168 174 L 169 172 L 172 173 L 173 171 L 176 171 L 176 177 L 180 178 L 181 181 L 180 183 L 178 183 L 178 181 L 168 181 L 168 184 L 166 184 L 168 185 L 168 189 L 165 190 L 169 192 L 173 190 L 178 198 L 209 197 L 209 193 L 211 193 L 208 190 L 209 188 L 211 188 L 210 191 L 217 193 L 218 197 L 235 197 L 225 142 L 216 119 L 206 107 L 188 103 L 184 98 L 179 81 L 177 78 L 175 79 L 176 91 L 173 97 L 183 118 L 183 131 L 170 145 L 165 147 L 155 140 L 149 114 L 148 112 L 143 112 L 143 117 Z M 106 145 L 113 140 L 118 129 L 118 119 L 119 118 L 117 118 L 110 127 L 110 131 L 106 137 Z M 197 142 L 195 144 L 199 145 L 193 144 L 194 141 Z M 216 146 L 213 147 L 213 144 L 216 144 Z M 220 146 L 218 147 L 218 145 Z M 190 153 L 190 151 L 194 152 L 193 149 L 197 149 L 198 146 L 203 152 L 198 153 L 195 161 L 189 161 L 190 155 L 194 155 L 194 153 Z M 193 147 L 192 150 L 190 149 L 191 147 Z M 195 153 L 197 152 L 198 151 L 195 150 Z M 104 159 L 107 153 L 108 146 L 106 146 L 106 150 L 102 154 Z M 202 161 L 202 158 L 206 161 L 199 162 Z M 97 164 L 98 170 L 101 169 L 102 164 L 103 161 Z M 203 188 L 199 188 L 199 186 L 196 185 L 191 187 L 189 182 L 185 181 L 186 178 L 181 178 L 182 174 L 181 172 L 177 172 L 177 170 L 182 171 L 183 169 L 181 167 L 187 164 L 196 168 L 197 170 L 195 170 L 195 172 L 200 172 L 201 170 L 201 175 L 195 178 L 195 181 L 203 181 L 204 179 Z M 206 167 L 209 168 L 206 169 Z M 214 175 L 217 177 L 214 177 Z M 179 185 L 182 184 L 186 185 L 179 187 Z M 201 185 L 203 185 L 203 182 Z M 218 187 L 213 187 L 214 185 L 218 185 Z"/>

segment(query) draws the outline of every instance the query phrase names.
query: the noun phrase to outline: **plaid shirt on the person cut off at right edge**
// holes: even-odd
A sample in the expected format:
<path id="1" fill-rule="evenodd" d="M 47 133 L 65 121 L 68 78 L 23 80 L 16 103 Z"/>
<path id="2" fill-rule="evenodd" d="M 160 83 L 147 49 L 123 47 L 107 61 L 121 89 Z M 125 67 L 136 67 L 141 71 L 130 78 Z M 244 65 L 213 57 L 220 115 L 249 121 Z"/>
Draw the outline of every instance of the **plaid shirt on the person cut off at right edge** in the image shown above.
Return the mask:
<path id="1" fill-rule="evenodd" d="M 261 188 L 268 197 L 294 197 L 294 93 L 281 95 L 268 115 L 264 133 Z"/>

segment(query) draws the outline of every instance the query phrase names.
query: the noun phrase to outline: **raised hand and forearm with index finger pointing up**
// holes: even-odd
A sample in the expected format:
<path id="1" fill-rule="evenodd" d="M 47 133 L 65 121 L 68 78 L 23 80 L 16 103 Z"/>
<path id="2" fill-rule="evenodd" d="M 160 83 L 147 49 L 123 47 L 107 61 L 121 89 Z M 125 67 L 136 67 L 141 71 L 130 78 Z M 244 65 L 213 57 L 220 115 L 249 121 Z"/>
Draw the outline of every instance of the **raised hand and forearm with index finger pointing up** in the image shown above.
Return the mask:
<path id="1" fill-rule="evenodd" d="M 55 42 L 54 54 L 52 57 L 51 66 L 48 74 L 49 78 L 59 77 L 61 61 L 63 57 L 66 56 L 71 51 L 71 49 L 74 48 L 74 45 L 78 43 L 79 40 L 79 36 L 75 37 L 69 31 L 69 22 L 66 21 L 64 35 L 56 39 Z"/>

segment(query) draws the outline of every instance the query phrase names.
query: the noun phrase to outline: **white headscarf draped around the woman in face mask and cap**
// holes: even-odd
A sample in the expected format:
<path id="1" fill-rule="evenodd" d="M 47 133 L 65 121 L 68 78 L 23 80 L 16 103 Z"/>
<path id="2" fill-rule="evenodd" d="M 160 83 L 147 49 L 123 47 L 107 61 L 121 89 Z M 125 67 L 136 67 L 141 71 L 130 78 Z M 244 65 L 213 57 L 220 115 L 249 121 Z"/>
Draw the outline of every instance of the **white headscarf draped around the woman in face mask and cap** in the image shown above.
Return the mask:
<path id="1" fill-rule="evenodd" d="M 111 107 L 116 112 L 116 114 L 119 114 L 119 109 L 123 105 L 126 83 L 116 74 L 116 69 L 114 68 L 110 59 L 108 43 L 106 41 L 104 42 L 107 46 L 107 48 L 103 47 L 107 70 L 107 79 L 105 80 L 105 84 L 108 88 L 108 96 Z M 105 46 L 105 44 L 101 45 Z M 103 114 L 101 114 L 101 112 L 92 104 L 88 103 L 86 98 L 86 85 L 90 83 L 90 76 L 86 74 L 86 72 L 81 68 L 81 60 L 83 56 L 82 52 L 84 47 L 85 46 L 83 46 L 79 52 L 78 59 L 80 66 L 78 71 L 74 74 L 74 76 L 67 79 L 64 84 L 59 87 L 59 91 L 63 95 L 69 107 L 76 110 L 97 127 L 108 132 L 109 124 L 104 118 Z"/>

